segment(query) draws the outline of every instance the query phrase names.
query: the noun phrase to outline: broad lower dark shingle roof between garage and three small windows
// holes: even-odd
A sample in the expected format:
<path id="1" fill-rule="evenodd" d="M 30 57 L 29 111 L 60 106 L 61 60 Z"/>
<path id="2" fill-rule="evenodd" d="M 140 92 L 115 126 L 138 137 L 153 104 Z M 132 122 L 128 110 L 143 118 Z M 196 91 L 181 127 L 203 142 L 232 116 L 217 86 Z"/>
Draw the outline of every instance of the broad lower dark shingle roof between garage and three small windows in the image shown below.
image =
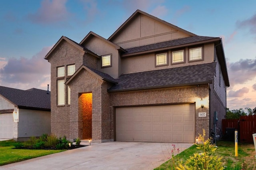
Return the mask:
<path id="1" fill-rule="evenodd" d="M 138 73 L 123 74 L 115 81 L 109 91 L 128 91 L 136 89 L 154 89 L 182 85 L 212 83 L 216 62 L 168 69 L 158 69 Z"/>

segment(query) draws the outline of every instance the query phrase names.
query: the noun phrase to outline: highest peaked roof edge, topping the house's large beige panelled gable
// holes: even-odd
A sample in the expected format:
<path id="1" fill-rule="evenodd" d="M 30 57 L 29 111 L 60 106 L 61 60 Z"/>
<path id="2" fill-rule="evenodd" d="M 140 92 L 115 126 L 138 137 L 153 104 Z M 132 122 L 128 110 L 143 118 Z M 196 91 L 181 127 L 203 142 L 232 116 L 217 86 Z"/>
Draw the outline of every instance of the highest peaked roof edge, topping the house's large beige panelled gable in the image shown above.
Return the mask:
<path id="1" fill-rule="evenodd" d="M 168 23 L 168 22 L 166 22 L 166 21 L 164 21 L 164 20 L 161 20 L 161 19 L 159 19 L 159 18 L 156 18 L 155 16 L 152 16 L 152 15 L 146 13 L 146 12 L 143 12 L 143 11 L 141 11 L 141 10 L 136 10 L 136 11 L 132 14 L 132 16 L 130 16 L 130 17 L 128 18 L 128 20 L 126 20 L 126 22 L 124 22 L 124 24 L 122 24 L 122 25 L 114 32 L 114 34 L 112 34 L 112 35 L 108 38 L 108 40 L 111 41 L 112 38 L 114 38 L 123 28 L 126 27 L 126 25 L 128 25 L 128 24 L 129 24 L 137 15 L 139 15 L 139 14 L 143 14 L 143 15 L 145 15 L 145 16 L 148 16 L 149 18 L 152 18 L 153 20 L 157 20 L 158 22 L 161 22 L 161 23 L 163 23 L 163 24 L 166 24 L 167 26 L 170 26 L 170 27 L 172 27 L 172 28 L 175 28 L 176 30 L 179 30 L 179 31 L 181 31 L 181 32 L 184 32 L 184 33 L 186 33 L 186 34 L 188 34 L 188 35 L 190 35 L 190 36 L 196 36 L 196 34 L 193 34 L 193 33 L 191 33 L 191 32 L 188 32 L 188 31 L 186 31 L 186 30 L 183 30 L 182 28 L 179 28 L 179 27 L 174 26 L 174 25 L 172 25 L 172 24 L 170 24 L 170 23 Z"/>

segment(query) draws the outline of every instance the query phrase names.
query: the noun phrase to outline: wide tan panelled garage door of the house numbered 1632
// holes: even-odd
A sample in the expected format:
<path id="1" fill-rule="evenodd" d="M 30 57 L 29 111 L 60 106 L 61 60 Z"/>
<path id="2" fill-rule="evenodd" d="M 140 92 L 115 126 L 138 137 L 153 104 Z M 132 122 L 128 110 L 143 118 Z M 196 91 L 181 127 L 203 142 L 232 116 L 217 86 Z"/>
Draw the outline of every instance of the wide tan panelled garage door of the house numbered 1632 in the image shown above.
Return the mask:
<path id="1" fill-rule="evenodd" d="M 195 105 L 116 108 L 116 140 L 195 142 Z"/>

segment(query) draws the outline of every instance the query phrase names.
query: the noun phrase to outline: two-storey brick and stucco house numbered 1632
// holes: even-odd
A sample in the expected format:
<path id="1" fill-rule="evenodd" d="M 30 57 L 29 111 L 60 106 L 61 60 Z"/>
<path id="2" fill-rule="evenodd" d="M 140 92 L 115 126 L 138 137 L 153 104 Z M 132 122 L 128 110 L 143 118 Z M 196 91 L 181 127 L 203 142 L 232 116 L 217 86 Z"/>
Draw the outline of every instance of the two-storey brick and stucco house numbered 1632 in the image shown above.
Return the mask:
<path id="1" fill-rule="evenodd" d="M 204 23 L 202 23 L 203 25 Z M 102 28 L 104 29 L 104 28 Z M 52 133 L 105 141 L 195 142 L 226 115 L 221 38 L 137 10 L 108 40 L 64 36 L 51 63 Z"/>

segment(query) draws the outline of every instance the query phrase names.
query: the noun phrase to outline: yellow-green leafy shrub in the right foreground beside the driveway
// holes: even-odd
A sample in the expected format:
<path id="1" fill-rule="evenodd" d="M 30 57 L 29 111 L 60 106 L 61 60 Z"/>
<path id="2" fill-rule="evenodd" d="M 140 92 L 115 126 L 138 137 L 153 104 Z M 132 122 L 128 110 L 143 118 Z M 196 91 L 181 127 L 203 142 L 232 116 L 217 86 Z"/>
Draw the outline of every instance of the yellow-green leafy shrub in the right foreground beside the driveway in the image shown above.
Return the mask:
<path id="1" fill-rule="evenodd" d="M 212 155 L 217 149 L 215 144 L 211 144 L 212 138 L 204 140 L 205 130 L 203 129 L 203 135 L 199 134 L 199 138 L 202 140 L 202 144 L 196 144 L 197 149 L 201 150 L 201 153 L 194 153 L 190 156 L 186 162 L 179 162 L 177 170 L 223 170 L 222 156 Z"/>

